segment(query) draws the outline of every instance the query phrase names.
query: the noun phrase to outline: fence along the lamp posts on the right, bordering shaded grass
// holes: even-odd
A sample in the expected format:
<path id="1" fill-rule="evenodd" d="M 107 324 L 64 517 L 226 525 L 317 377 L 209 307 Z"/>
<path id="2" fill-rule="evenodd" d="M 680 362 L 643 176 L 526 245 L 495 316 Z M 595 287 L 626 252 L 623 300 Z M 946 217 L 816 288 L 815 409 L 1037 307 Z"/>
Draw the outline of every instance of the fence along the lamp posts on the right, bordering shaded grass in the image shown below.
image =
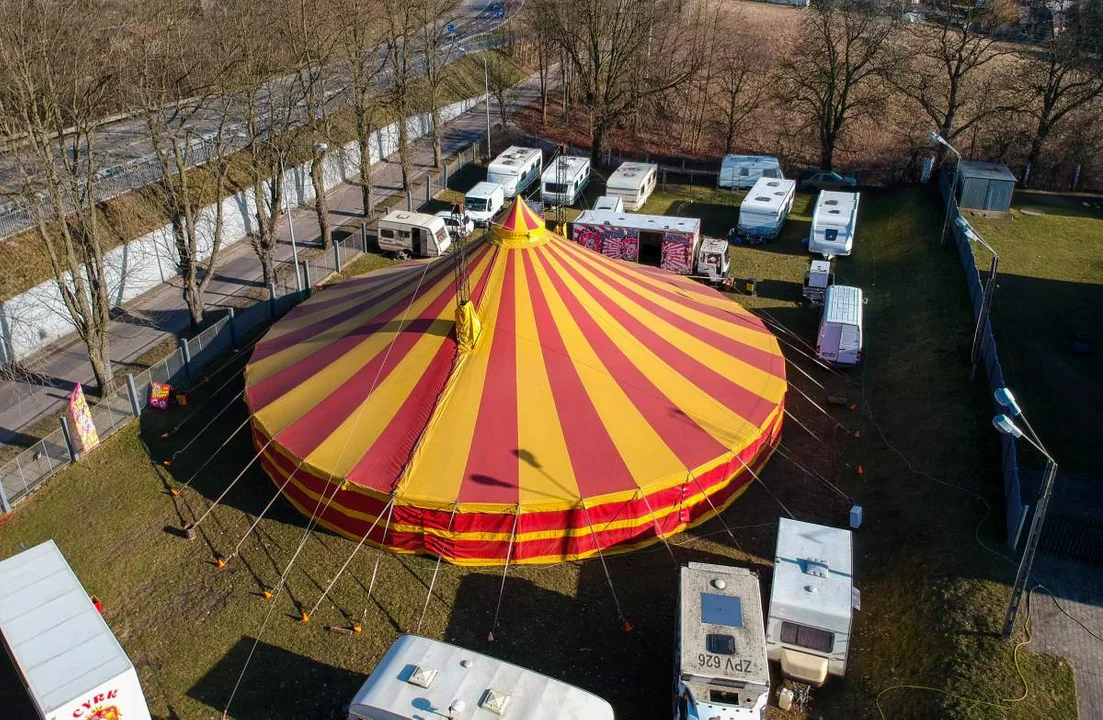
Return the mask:
<path id="1" fill-rule="evenodd" d="M 953 197 L 949 202 L 954 202 Z M 956 204 L 956 203 L 955 203 Z M 956 207 L 953 208 L 956 211 Z M 984 284 L 981 282 L 981 271 L 977 270 L 976 260 L 973 257 L 973 247 L 965 237 L 963 230 L 956 223 L 951 223 L 954 241 L 957 244 L 957 255 L 961 258 L 962 269 L 965 270 L 965 286 L 968 288 L 970 302 L 973 308 L 973 320 L 981 315 L 981 302 L 984 298 Z M 988 397 L 993 398 L 993 410 L 1003 412 L 1004 409 L 995 401 L 993 393 L 996 388 L 1004 387 L 1004 369 L 999 364 L 999 353 L 996 350 L 996 335 L 992 330 L 992 321 L 985 319 L 981 334 L 981 358 L 984 361 L 984 372 L 988 377 Z M 1008 434 L 999 436 L 1000 469 L 1004 476 L 1004 517 L 1007 520 L 1007 546 L 1016 548 L 1018 546 L 1019 534 L 1026 520 L 1028 507 L 1022 503 L 1021 482 L 1019 477 L 1018 452 L 1015 445 L 1015 438 Z"/>

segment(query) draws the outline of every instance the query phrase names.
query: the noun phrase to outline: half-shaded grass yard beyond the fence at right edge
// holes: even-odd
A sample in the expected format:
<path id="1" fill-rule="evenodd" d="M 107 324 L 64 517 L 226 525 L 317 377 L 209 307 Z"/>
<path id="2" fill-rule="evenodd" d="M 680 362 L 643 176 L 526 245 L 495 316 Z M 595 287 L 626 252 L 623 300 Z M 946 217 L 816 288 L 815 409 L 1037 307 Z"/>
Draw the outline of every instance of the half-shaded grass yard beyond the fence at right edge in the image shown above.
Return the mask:
<path id="1" fill-rule="evenodd" d="M 1007 382 L 1067 470 L 1097 472 L 1103 433 L 1103 201 L 1019 193 L 1014 219 L 970 217 L 999 252 L 992 318 Z M 988 255 L 975 247 L 977 267 Z M 1094 352 L 1071 352 L 1086 332 Z"/>

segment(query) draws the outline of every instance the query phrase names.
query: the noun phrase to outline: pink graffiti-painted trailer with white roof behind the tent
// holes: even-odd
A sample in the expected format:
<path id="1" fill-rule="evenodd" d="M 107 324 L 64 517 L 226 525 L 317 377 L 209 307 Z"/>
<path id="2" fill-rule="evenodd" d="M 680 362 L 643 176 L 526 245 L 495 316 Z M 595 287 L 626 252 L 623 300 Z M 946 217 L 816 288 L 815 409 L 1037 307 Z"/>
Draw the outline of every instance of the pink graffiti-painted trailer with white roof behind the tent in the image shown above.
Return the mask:
<path id="1" fill-rule="evenodd" d="M 700 250 L 700 221 L 590 209 L 575 221 L 570 239 L 606 257 L 694 275 Z"/>

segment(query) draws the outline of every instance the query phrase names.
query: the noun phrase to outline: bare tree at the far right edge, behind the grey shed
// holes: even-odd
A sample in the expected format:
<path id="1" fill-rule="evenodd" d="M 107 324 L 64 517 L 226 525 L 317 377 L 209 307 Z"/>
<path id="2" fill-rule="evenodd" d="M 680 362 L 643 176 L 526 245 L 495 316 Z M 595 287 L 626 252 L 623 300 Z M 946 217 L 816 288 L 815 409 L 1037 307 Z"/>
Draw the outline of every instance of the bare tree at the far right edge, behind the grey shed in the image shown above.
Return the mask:
<path id="1" fill-rule="evenodd" d="M 1063 32 L 1040 50 L 1022 52 L 1019 93 L 1035 120 L 1027 153 L 1038 164 L 1053 130 L 1079 108 L 1103 97 L 1103 0 L 1081 0 L 1067 17 Z M 1029 183 L 1029 178 L 1025 180 Z"/>

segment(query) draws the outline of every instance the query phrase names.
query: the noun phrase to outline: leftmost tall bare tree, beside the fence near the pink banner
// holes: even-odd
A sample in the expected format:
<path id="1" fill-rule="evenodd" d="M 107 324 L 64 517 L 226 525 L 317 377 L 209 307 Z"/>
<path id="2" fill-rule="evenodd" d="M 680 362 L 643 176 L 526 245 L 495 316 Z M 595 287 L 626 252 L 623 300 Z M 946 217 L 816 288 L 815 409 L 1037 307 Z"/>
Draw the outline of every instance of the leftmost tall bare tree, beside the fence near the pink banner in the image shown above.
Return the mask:
<path id="1" fill-rule="evenodd" d="M 84 0 L 0 4 L 0 133 L 17 139 L 19 194 L 101 395 L 115 387 L 106 233 L 94 195 L 100 119 L 117 101 L 108 24 L 104 8 Z"/>

